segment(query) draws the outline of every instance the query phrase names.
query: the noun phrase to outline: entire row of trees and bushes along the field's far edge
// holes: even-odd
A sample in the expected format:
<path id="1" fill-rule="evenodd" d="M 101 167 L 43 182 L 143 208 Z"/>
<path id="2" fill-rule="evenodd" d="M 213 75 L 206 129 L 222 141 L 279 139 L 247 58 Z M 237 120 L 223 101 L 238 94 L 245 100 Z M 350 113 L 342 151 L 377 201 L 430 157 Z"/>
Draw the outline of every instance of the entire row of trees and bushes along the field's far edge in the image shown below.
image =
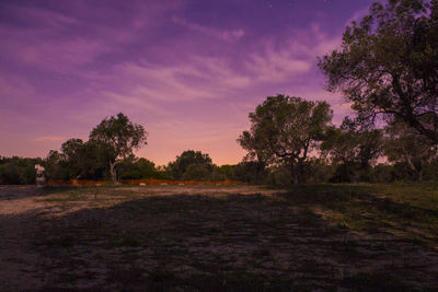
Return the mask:
<path id="1" fill-rule="evenodd" d="M 97 125 L 88 141 L 69 139 L 45 159 L 0 157 L 0 184 L 34 184 L 35 164 L 45 167 L 48 179 L 61 180 L 231 179 L 283 186 L 438 180 L 437 144 L 404 122 L 376 129 L 346 117 L 335 127 L 325 102 L 284 95 L 267 97 L 250 119 L 251 130 L 238 139 L 249 153 L 235 165 L 218 166 L 208 153 L 194 150 L 164 166 L 136 157 L 132 140 L 146 132 L 118 114 Z M 107 137 L 96 139 L 96 129 Z"/>

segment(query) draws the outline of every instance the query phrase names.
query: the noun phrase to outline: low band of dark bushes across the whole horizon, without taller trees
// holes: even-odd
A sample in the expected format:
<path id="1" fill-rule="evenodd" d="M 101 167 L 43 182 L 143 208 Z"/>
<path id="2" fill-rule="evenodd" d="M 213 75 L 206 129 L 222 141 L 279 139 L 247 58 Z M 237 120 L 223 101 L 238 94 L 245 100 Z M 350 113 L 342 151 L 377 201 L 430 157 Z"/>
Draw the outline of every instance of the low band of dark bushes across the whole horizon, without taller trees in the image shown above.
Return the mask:
<path id="1" fill-rule="evenodd" d="M 66 157 L 56 157 L 54 152 L 46 159 L 0 157 L 1 185 L 35 184 L 35 164 L 46 168 L 49 179 L 68 180 L 71 178 L 110 180 L 110 170 L 105 161 L 89 167 L 84 164 L 80 170 L 78 164 Z M 60 154 L 60 153 L 58 153 Z M 420 153 L 418 153 L 420 154 Z M 394 182 L 438 182 L 438 160 L 420 161 L 411 157 L 414 167 L 406 161 L 388 164 L 362 164 L 359 161 L 336 161 L 330 163 L 325 157 L 311 157 L 303 165 L 301 183 L 394 183 Z M 93 160 L 96 162 L 96 160 Z M 100 165 L 100 166 L 99 166 Z M 249 184 L 288 186 L 291 184 L 290 170 L 286 165 L 266 166 L 255 161 L 242 161 L 234 165 L 218 166 L 211 162 L 208 154 L 187 150 L 165 166 L 157 166 L 147 159 L 128 160 L 117 165 L 119 179 L 174 179 L 220 182 L 239 180 Z M 77 175 L 81 173 L 81 175 Z"/>

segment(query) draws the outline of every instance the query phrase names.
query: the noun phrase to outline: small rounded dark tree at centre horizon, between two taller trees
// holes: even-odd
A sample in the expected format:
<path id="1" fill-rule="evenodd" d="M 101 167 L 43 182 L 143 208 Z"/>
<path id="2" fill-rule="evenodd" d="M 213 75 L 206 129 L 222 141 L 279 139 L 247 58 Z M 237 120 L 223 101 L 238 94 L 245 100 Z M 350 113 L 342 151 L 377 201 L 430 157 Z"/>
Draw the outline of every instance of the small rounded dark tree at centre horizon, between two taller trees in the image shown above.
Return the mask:
<path id="1" fill-rule="evenodd" d="M 188 173 L 186 174 L 191 165 L 198 165 L 191 168 L 189 174 L 193 174 L 193 176 L 191 176 Z M 214 166 L 212 161 L 207 153 L 186 150 L 181 153 L 180 156 L 176 156 L 174 162 L 169 164 L 169 168 L 173 179 L 195 179 L 199 177 L 200 173 L 206 174 L 206 170 L 209 174 L 211 174 Z"/>

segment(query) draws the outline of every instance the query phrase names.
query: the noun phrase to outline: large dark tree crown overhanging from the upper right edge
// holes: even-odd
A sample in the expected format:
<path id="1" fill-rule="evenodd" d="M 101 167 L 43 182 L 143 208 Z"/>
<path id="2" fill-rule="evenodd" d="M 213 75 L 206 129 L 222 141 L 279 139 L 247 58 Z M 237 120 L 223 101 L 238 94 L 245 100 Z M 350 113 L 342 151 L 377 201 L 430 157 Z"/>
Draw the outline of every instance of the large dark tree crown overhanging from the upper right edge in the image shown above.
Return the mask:
<path id="1" fill-rule="evenodd" d="M 438 143 L 437 0 L 373 3 L 319 67 L 327 89 L 341 91 L 364 125 L 400 120 Z"/>

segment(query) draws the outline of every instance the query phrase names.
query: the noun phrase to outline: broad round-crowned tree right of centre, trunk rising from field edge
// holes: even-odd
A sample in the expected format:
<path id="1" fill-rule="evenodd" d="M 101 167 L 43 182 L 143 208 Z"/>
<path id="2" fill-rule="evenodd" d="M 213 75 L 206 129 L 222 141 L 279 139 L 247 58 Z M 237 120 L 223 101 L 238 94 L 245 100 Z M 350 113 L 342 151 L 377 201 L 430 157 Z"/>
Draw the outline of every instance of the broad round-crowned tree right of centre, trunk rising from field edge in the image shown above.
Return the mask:
<path id="1" fill-rule="evenodd" d="M 332 110 L 325 102 L 277 95 L 267 97 L 249 117 L 251 130 L 238 139 L 249 157 L 289 166 L 291 180 L 298 184 L 309 153 L 331 124 Z"/>

